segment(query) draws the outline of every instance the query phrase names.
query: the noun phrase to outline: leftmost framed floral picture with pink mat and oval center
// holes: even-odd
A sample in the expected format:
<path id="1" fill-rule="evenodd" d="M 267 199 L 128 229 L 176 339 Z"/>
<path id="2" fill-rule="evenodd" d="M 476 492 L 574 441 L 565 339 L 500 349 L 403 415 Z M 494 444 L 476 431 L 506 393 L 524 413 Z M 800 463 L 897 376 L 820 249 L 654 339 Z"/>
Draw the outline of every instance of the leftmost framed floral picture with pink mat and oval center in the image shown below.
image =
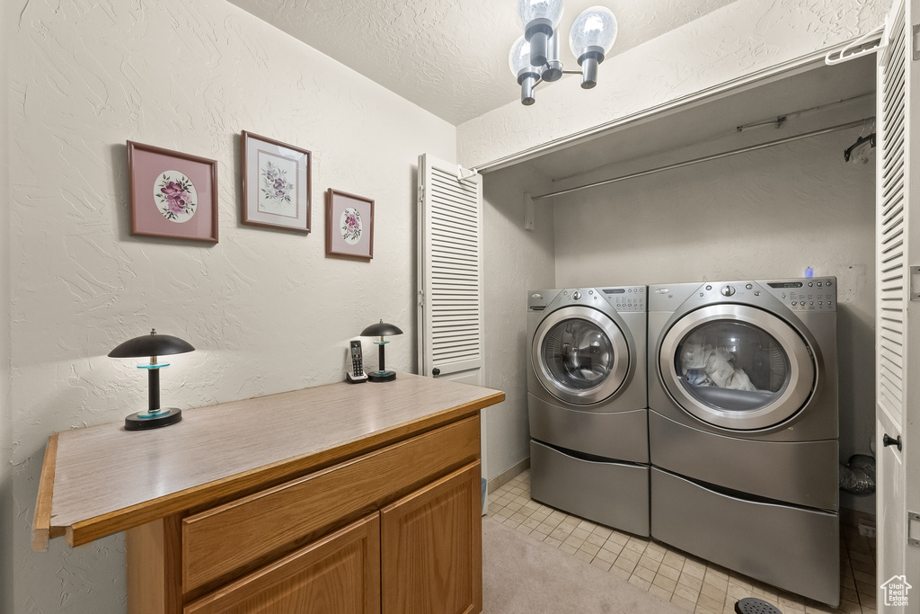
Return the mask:
<path id="1" fill-rule="evenodd" d="M 217 242 L 217 161 L 128 141 L 131 234 Z"/>

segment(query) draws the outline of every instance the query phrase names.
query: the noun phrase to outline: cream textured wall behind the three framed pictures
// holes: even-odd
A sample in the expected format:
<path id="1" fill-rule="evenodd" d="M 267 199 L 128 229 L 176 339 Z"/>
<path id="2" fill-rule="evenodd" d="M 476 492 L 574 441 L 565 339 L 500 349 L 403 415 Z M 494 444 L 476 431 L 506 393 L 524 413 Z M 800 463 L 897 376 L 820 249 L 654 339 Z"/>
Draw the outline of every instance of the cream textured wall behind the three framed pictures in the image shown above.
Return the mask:
<path id="1" fill-rule="evenodd" d="M 411 370 L 417 156 L 453 159 L 455 131 L 224 0 L 5 6 L 13 611 L 114 613 L 121 535 L 30 550 L 48 435 L 145 407 L 144 375 L 106 353 L 152 327 L 191 342 L 162 375 L 182 408 L 341 380 L 348 340 L 381 318 L 409 333 L 388 365 Z M 239 224 L 241 130 L 312 150 L 311 235 Z M 218 160 L 218 245 L 129 236 L 129 139 Z M 374 198 L 370 263 L 325 258 L 330 187 Z"/>

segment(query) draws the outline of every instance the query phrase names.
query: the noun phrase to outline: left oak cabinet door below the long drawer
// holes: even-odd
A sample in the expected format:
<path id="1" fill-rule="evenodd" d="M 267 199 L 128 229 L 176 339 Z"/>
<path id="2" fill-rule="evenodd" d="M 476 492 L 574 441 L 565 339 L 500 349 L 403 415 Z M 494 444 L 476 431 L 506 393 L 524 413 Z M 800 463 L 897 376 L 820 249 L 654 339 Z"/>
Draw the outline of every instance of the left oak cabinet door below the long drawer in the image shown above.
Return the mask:
<path id="1" fill-rule="evenodd" d="M 380 519 L 366 516 L 201 597 L 184 614 L 380 614 Z"/>

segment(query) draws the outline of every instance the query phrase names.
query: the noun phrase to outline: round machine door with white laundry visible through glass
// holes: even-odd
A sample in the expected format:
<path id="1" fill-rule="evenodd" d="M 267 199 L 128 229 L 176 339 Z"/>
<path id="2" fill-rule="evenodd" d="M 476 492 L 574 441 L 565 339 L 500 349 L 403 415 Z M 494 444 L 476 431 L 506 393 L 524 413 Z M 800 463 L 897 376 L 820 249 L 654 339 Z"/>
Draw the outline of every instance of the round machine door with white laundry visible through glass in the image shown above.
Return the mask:
<path id="1" fill-rule="evenodd" d="M 678 319 L 661 341 L 659 369 L 684 411 L 734 431 L 791 418 L 811 396 L 816 373 L 795 329 L 744 305 L 702 307 Z"/>

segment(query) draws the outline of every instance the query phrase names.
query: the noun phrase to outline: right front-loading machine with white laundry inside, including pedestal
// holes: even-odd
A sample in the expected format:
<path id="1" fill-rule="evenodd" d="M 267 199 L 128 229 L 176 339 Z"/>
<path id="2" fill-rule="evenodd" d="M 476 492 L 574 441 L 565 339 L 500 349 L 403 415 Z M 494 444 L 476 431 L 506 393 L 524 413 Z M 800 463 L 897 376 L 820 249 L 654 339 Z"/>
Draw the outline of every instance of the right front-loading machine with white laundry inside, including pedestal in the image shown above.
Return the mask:
<path id="1" fill-rule="evenodd" d="M 836 286 L 649 287 L 651 536 L 834 607 Z"/>

